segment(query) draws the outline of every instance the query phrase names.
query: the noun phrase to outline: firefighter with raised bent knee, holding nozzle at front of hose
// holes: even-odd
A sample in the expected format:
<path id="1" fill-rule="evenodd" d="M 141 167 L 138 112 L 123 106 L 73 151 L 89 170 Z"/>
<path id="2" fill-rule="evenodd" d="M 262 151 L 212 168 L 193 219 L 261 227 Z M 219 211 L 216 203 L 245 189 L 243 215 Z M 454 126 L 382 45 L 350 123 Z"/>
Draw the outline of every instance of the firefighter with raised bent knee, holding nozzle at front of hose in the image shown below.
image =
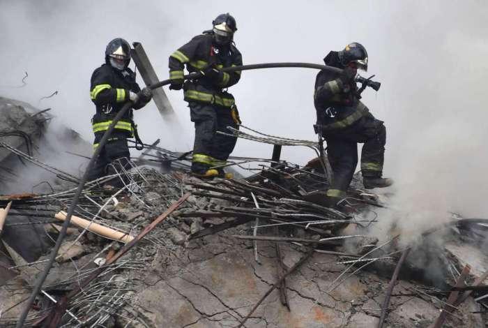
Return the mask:
<path id="1" fill-rule="evenodd" d="M 364 143 L 361 172 L 365 188 L 382 188 L 392 179 L 382 177 L 386 143 L 383 121 L 375 119 L 360 101 L 356 74 L 367 70 L 367 52 L 363 45 L 351 43 L 340 52 L 331 51 L 326 65 L 342 68 L 342 73 L 321 70 L 315 80 L 314 105 L 317 110 L 317 131 L 327 142 L 328 159 L 333 181 L 327 191 L 330 204 L 345 197 L 358 165 L 358 142 Z"/>

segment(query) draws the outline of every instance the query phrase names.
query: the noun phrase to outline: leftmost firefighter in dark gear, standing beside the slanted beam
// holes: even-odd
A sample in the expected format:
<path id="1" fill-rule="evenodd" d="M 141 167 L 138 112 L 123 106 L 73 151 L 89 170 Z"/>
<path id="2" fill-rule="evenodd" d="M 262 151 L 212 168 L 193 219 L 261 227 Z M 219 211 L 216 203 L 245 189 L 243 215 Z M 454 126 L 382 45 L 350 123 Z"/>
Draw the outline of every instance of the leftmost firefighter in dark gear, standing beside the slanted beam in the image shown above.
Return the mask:
<path id="1" fill-rule="evenodd" d="M 152 98 L 151 90 L 144 88 L 142 95 L 135 73 L 128 68 L 130 63 L 130 45 L 123 38 L 115 38 L 110 41 L 105 50 L 105 64 L 96 68 L 91 75 L 90 96 L 96 105 L 96 114 L 91 119 L 95 142 L 93 148 L 98 147 L 103 134 L 112 123 L 121 107 L 128 101 L 132 101 L 133 108 L 139 110 Z M 117 122 L 112 135 L 98 156 L 96 165 L 91 172 L 91 179 L 97 179 L 104 175 L 114 174 L 111 163 L 127 165 L 130 152 L 127 144 L 128 137 L 134 137 L 134 121 L 132 121 L 132 109 Z M 115 163 L 113 165 L 116 165 Z"/>

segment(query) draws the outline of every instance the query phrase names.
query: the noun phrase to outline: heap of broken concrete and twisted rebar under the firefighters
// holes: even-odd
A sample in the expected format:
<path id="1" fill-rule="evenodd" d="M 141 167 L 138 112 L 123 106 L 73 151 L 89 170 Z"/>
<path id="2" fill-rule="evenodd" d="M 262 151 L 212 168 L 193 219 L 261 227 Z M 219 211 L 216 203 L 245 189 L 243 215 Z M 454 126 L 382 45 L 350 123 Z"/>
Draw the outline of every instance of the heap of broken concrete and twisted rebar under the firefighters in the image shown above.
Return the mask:
<path id="1" fill-rule="evenodd" d="M 22 179 L 24 165 L 50 174 L 36 190 L 23 184 L 28 193 L 0 197 L 0 326 L 13 327 L 79 174 L 29 151 L 43 140 L 46 113 L 2 102 L 3 186 Z M 317 148 L 250 129 L 229 133 Z M 203 181 L 188 174 L 190 154 L 146 147 L 130 170 L 86 184 L 26 325 L 485 327 L 487 221 L 453 216 L 405 245 L 395 225 L 371 234 L 387 201 L 360 179 L 341 210 L 323 205 L 326 161 L 234 157 L 230 167 L 261 167 L 245 179 Z M 124 187 L 107 193 L 102 183 L 113 178 Z"/>

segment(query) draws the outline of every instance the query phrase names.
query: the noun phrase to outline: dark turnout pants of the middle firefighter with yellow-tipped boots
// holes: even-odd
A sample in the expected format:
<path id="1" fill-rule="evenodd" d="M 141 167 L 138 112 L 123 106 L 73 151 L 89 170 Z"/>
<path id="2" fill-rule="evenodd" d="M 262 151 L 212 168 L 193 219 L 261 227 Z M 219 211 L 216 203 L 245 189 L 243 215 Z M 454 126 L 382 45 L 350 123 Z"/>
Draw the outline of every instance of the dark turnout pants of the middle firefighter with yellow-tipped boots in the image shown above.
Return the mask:
<path id="1" fill-rule="evenodd" d="M 231 109 L 206 103 L 189 103 L 189 107 L 190 118 L 195 123 L 192 172 L 204 173 L 210 167 L 224 165 L 236 147 L 237 137 L 217 131 L 230 133 L 227 126 L 238 128 Z"/>

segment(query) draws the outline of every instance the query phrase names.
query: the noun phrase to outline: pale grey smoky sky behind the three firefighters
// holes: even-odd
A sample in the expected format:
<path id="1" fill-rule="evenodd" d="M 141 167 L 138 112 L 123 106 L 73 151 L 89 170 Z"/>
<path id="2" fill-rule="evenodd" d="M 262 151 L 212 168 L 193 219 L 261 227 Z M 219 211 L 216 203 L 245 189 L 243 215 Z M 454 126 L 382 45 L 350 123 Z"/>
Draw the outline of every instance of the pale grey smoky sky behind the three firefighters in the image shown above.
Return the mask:
<path id="1" fill-rule="evenodd" d="M 369 52 L 381 90 L 364 102 L 387 127 L 385 173 L 402 204 L 486 216 L 488 204 L 488 2 L 480 1 L 6 1 L 0 0 L 0 95 L 52 107 L 91 142 L 90 77 L 115 37 L 143 43 L 161 80 L 167 58 L 211 27 L 219 13 L 238 24 L 245 64 L 322 64 L 352 41 Z M 132 65 L 132 64 L 131 64 Z M 132 65 L 133 66 L 133 65 Z M 28 85 L 22 89 L 24 71 Z M 273 135 L 315 140 L 316 70 L 243 73 L 230 91 L 243 123 Z M 142 84 L 142 81 L 139 80 Z M 58 90 L 59 95 L 38 102 Z M 169 133 L 155 105 L 136 112 L 145 142 L 191 149 L 193 126 L 181 91 L 165 89 L 184 131 Z M 239 140 L 234 154 L 269 157 L 270 145 Z M 294 163 L 309 149 L 286 148 Z"/>

